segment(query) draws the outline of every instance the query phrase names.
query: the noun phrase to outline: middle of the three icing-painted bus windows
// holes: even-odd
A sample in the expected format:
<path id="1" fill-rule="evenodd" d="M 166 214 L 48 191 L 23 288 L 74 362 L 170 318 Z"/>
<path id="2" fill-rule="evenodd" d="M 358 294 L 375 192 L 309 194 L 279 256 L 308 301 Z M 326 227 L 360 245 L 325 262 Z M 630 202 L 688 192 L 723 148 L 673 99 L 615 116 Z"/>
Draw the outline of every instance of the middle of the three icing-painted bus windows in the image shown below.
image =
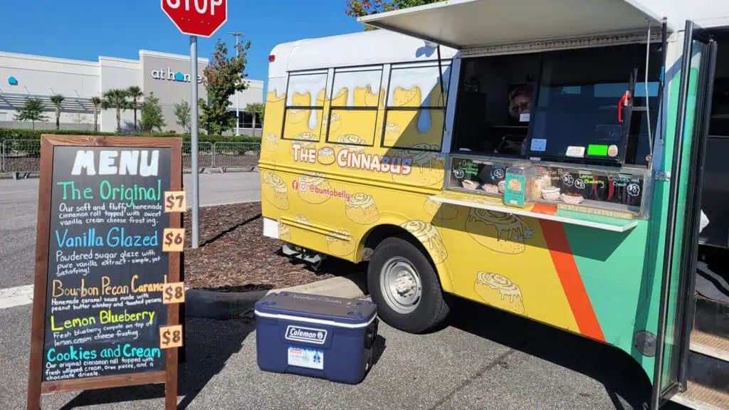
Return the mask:
<path id="1" fill-rule="evenodd" d="M 385 96 L 381 83 L 381 66 L 335 70 L 330 109 L 324 117 L 327 142 L 374 145 L 378 107 Z"/>

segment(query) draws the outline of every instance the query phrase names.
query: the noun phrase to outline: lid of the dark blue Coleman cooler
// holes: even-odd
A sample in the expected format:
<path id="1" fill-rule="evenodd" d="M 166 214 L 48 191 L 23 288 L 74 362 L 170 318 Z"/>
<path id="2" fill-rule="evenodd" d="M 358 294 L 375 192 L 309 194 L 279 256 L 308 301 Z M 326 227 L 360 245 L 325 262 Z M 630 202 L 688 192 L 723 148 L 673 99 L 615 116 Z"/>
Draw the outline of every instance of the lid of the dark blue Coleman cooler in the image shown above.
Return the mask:
<path id="1" fill-rule="evenodd" d="M 364 299 L 335 298 L 306 293 L 271 293 L 256 302 L 256 314 L 284 316 L 321 321 L 331 321 L 330 325 L 364 325 L 377 313 L 375 303 Z"/>

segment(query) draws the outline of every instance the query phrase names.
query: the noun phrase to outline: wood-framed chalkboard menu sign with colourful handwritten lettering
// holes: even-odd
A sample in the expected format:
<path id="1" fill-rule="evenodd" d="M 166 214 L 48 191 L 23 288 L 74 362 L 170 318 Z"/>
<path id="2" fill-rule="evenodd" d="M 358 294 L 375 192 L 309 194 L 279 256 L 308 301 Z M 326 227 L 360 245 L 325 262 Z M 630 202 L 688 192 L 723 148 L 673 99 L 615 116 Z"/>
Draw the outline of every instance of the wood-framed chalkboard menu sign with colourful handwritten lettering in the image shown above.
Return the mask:
<path id="1" fill-rule="evenodd" d="M 28 408 L 40 392 L 165 382 L 176 349 L 160 326 L 179 311 L 163 286 L 180 258 L 164 231 L 181 218 L 163 201 L 182 189 L 179 139 L 44 136 L 41 160 Z"/>

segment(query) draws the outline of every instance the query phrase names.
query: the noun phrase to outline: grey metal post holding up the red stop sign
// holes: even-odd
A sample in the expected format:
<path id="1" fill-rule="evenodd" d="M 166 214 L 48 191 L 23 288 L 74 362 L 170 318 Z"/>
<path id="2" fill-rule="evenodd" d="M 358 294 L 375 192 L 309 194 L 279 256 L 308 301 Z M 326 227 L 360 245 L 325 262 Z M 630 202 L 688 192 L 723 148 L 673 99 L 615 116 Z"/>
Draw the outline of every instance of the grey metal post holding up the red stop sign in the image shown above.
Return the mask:
<path id="1" fill-rule="evenodd" d="M 198 36 L 190 36 L 190 158 L 192 160 L 192 249 L 200 246 L 198 217 L 200 211 L 200 170 L 198 169 Z"/>

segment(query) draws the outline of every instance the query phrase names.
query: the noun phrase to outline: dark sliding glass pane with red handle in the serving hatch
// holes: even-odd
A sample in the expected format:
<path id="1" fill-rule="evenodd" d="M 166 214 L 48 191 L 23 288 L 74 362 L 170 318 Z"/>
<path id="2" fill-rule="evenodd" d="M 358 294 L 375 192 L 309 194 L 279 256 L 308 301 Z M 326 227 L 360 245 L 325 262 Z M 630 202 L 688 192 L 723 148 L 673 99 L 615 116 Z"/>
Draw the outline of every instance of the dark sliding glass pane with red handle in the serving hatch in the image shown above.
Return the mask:
<path id="1" fill-rule="evenodd" d="M 648 106 L 658 118 L 660 53 L 651 47 Z M 531 112 L 529 157 L 577 163 L 644 165 L 650 143 L 646 45 L 545 54 Z"/>

